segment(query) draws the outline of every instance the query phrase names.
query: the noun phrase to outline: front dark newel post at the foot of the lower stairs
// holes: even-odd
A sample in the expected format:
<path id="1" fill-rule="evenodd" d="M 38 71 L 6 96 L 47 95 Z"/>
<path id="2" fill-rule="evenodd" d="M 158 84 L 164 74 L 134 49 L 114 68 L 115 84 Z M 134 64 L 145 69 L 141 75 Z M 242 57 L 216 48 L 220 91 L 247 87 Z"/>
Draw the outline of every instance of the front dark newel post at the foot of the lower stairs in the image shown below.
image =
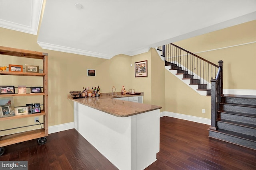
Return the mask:
<path id="1" fill-rule="evenodd" d="M 217 130 L 218 127 L 217 127 L 217 121 L 216 121 L 216 111 L 217 111 L 217 108 L 216 108 L 216 79 L 212 79 L 211 80 L 212 82 L 212 90 L 211 90 L 211 127 L 210 129 L 212 130 Z"/>

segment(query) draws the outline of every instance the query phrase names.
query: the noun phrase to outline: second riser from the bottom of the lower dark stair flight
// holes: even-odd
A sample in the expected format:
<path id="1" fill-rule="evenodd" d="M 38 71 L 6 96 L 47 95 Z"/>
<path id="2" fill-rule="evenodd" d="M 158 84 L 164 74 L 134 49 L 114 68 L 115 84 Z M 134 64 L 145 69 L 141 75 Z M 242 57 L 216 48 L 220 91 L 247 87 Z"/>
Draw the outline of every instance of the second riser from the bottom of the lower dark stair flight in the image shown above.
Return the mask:
<path id="1" fill-rule="evenodd" d="M 228 124 L 228 123 L 222 123 L 222 122 L 219 122 L 219 121 L 217 123 L 217 126 L 218 126 L 219 129 L 224 129 L 224 130 L 227 130 L 227 131 L 242 133 L 242 134 L 245 134 L 245 135 L 256 136 L 256 129 L 253 129 L 253 128 L 243 127 L 243 126 Z"/>

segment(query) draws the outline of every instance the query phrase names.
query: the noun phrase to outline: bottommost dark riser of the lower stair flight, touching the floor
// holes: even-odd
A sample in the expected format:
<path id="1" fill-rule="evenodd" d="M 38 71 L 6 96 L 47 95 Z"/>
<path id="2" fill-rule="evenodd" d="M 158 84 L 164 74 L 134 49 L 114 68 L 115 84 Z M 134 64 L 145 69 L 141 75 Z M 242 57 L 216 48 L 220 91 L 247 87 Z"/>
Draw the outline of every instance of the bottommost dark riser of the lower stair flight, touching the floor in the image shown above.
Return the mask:
<path id="1" fill-rule="evenodd" d="M 244 147 L 256 149 L 256 142 L 255 141 L 240 139 L 238 137 L 224 135 L 222 133 L 213 132 L 213 131 L 209 131 L 209 137 L 213 137 L 215 139 L 220 139 L 222 141 L 234 143 L 234 144 L 241 145 L 241 146 L 244 146 Z"/>

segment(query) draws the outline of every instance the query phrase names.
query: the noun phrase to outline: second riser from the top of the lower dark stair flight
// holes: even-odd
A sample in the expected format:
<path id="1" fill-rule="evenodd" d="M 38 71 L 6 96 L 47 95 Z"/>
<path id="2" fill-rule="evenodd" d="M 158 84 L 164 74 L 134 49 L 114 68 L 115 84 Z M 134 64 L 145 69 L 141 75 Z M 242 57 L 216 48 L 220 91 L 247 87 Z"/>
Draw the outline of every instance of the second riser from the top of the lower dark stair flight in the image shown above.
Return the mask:
<path id="1" fill-rule="evenodd" d="M 228 104 L 220 104 L 220 109 L 226 110 L 226 111 L 252 113 L 252 114 L 256 115 L 256 108 L 254 108 L 254 107 L 232 106 L 232 105 L 228 105 Z"/>

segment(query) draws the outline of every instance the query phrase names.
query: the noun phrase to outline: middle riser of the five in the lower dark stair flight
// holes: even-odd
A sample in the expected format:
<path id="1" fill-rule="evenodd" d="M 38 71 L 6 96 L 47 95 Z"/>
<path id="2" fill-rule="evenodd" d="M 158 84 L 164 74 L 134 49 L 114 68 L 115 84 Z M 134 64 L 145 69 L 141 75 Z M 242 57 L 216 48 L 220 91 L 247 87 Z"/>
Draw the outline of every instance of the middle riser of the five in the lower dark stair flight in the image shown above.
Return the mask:
<path id="1" fill-rule="evenodd" d="M 225 120 L 238 121 L 242 123 L 249 123 L 252 125 L 256 125 L 256 117 L 247 117 L 247 116 L 241 116 L 241 115 L 220 113 L 220 118 Z"/>

